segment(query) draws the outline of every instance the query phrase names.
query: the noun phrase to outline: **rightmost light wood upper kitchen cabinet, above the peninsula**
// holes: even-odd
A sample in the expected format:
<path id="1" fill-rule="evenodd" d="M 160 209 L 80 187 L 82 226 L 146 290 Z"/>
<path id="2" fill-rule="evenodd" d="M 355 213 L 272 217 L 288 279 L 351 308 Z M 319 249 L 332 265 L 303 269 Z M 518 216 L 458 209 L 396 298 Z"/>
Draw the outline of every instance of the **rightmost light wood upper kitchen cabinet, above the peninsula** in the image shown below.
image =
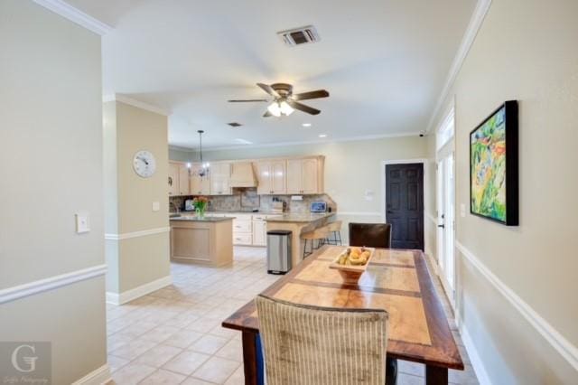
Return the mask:
<path id="1" fill-rule="evenodd" d="M 287 193 L 322 193 L 323 161 L 322 156 L 287 160 Z"/>

